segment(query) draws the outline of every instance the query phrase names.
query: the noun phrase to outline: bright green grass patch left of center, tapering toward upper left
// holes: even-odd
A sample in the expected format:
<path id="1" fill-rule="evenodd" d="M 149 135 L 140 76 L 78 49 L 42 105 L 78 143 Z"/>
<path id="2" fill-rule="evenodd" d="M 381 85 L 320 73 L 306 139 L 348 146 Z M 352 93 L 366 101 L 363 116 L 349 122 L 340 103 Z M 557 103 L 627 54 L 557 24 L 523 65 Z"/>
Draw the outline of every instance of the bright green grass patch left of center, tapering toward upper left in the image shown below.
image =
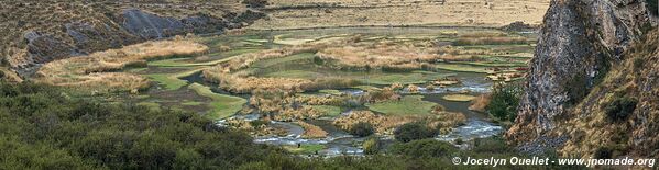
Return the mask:
<path id="1" fill-rule="evenodd" d="M 240 111 L 242 105 L 248 102 L 242 98 L 215 93 L 210 88 L 198 83 L 191 83 L 188 88 L 197 92 L 197 94 L 212 100 L 212 102 L 208 103 L 208 105 L 211 106 L 211 110 L 207 114 L 207 116 L 212 120 L 229 117 Z"/>

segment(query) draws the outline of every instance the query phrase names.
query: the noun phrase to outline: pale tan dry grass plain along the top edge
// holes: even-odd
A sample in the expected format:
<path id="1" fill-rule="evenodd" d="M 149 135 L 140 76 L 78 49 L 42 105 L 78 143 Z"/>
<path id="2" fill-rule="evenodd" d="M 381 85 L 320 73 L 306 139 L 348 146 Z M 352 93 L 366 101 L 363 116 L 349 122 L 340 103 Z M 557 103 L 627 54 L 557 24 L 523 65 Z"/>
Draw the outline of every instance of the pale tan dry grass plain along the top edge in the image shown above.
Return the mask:
<path id="1" fill-rule="evenodd" d="M 464 25 L 503 26 L 515 21 L 540 24 L 549 0 L 271 0 L 268 20 L 253 29 L 336 26 Z M 282 7 L 293 9 L 277 10 Z M 298 8 L 295 7 L 314 7 Z"/>

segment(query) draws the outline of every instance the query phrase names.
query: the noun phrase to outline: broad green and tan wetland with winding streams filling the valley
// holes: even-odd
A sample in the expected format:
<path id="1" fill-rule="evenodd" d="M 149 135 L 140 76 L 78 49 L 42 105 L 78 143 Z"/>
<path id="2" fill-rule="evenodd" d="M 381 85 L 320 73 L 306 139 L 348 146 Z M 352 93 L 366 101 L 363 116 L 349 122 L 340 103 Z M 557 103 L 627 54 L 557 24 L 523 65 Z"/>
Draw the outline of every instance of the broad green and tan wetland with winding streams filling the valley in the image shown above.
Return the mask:
<path id="1" fill-rule="evenodd" d="M 521 79 L 535 39 L 479 27 L 248 31 L 185 37 L 204 52 L 150 57 L 114 72 L 149 82 L 124 100 L 196 111 L 295 154 L 362 155 L 369 137 L 348 133 L 360 122 L 385 143 L 397 126 L 418 121 L 451 143 L 499 134 L 470 101 Z"/>

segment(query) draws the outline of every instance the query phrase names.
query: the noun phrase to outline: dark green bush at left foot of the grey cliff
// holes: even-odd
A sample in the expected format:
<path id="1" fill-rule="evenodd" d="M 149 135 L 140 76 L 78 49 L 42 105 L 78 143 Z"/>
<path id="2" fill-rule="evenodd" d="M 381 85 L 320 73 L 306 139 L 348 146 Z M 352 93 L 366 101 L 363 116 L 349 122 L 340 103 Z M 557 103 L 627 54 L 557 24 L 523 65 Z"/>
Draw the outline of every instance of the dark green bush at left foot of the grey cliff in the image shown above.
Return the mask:
<path id="1" fill-rule="evenodd" d="M 520 95 L 521 87 L 519 84 L 496 84 L 485 110 L 501 121 L 515 121 Z"/>

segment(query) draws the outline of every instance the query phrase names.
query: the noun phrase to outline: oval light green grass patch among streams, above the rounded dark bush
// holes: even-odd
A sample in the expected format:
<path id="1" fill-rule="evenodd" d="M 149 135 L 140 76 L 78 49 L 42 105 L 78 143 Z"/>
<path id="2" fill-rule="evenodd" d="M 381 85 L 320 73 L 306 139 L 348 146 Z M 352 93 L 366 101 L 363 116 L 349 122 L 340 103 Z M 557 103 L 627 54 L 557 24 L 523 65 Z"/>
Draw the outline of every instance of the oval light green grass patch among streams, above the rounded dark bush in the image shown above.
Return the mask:
<path id="1" fill-rule="evenodd" d="M 425 115 L 430 114 L 432 107 L 437 103 L 422 101 L 421 95 L 407 95 L 397 100 L 391 100 L 382 103 L 366 104 L 366 106 L 375 112 L 387 115 Z"/>

